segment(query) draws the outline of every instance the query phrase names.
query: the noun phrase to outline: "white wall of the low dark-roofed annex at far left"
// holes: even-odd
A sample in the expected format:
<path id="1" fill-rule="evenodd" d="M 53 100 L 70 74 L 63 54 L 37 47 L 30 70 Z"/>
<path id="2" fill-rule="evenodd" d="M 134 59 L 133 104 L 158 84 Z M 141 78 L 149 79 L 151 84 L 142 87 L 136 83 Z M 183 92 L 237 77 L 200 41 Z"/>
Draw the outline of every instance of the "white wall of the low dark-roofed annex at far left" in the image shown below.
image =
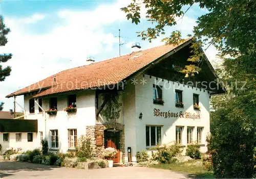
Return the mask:
<path id="1" fill-rule="evenodd" d="M 4 141 L 3 134 L 0 133 L 0 144 L 2 145 L 2 152 L 4 152 L 7 149 L 13 148 L 22 148 L 22 151 L 32 150 L 34 148 L 38 148 L 37 145 L 37 133 L 33 133 L 33 141 L 28 142 L 28 133 L 22 133 L 22 140 L 16 141 L 16 133 L 9 133 L 9 141 Z"/>

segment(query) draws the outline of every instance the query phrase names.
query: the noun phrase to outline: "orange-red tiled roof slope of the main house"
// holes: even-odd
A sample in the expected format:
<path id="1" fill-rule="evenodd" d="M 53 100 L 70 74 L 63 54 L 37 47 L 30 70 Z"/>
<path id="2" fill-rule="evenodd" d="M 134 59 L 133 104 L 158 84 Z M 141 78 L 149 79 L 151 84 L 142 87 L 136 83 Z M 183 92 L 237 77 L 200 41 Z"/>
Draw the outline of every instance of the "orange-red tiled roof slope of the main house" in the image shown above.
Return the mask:
<path id="1" fill-rule="evenodd" d="M 40 82 L 11 93 L 6 97 L 22 95 L 39 90 L 39 87 L 44 88 L 44 90 L 33 97 L 96 88 L 107 84 L 114 85 L 191 39 L 192 38 L 185 39 L 185 41 L 179 45 L 161 45 L 121 57 L 92 63 L 90 65 L 67 69 Z M 135 56 L 136 58 L 134 58 Z M 56 79 L 55 82 L 54 78 Z"/>

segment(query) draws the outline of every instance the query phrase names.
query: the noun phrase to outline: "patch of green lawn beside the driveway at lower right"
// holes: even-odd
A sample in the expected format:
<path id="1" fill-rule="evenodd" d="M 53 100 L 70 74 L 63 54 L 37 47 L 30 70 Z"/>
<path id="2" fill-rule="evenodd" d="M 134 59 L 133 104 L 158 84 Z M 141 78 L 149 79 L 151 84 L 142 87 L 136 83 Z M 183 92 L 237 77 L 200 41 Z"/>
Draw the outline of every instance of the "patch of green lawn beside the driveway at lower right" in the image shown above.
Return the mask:
<path id="1" fill-rule="evenodd" d="M 204 166 L 196 166 L 195 163 L 200 160 L 192 160 L 184 163 L 159 164 L 150 167 L 161 168 L 172 171 L 187 173 L 189 177 L 195 178 L 215 178 L 214 173 L 208 171 Z"/>

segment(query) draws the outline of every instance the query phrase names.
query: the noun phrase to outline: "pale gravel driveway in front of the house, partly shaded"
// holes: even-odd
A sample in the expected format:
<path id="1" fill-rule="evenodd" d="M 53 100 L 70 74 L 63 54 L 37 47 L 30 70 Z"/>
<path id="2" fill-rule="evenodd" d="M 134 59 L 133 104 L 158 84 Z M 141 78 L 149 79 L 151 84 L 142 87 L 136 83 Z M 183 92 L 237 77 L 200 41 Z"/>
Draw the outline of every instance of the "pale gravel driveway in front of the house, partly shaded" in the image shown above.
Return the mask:
<path id="1" fill-rule="evenodd" d="M 185 174 L 146 167 L 113 167 L 75 169 L 27 162 L 0 162 L 0 177 L 4 178 L 187 178 Z"/>

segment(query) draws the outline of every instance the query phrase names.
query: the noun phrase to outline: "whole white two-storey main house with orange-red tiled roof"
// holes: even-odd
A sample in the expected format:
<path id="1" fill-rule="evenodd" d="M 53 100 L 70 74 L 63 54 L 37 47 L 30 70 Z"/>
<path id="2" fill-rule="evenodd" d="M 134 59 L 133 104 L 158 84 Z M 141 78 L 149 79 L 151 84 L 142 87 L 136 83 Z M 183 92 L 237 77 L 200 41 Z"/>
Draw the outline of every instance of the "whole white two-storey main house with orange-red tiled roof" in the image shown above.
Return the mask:
<path id="1" fill-rule="evenodd" d="M 218 76 L 204 54 L 195 64 L 202 69 L 199 74 L 184 78 L 178 72 L 190 64 L 186 60 L 193 41 L 61 71 L 7 97 L 24 95 L 25 119 L 38 120 L 38 147 L 46 137 L 51 150 L 75 150 L 79 136 L 87 135 L 96 155 L 105 147 L 117 148 L 114 162 L 128 161 L 130 147 L 129 160 L 136 161 L 137 151 L 173 141 L 184 146 L 198 142 L 205 152 L 209 97 L 225 89 L 216 83 Z M 110 121 L 100 110 L 108 104 L 102 96 L 113 91 L 118 91 L 120 105 L 118 119 Z M 70 105 L 77 111 L 63 110 Z M 56 115 L 45 112 L 51 108 L 58 110 Z"/>

